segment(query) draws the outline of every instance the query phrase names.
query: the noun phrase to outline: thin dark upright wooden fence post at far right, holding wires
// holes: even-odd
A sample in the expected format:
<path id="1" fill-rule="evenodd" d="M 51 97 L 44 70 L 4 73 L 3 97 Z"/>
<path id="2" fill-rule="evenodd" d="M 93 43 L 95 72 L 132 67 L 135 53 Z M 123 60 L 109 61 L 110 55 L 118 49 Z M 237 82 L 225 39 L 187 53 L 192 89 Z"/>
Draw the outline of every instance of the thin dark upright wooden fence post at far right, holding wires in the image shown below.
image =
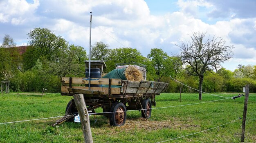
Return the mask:
<path id="1" fill-rule="evenodd" d="M 246 122 L 248 98 L 249 98 L 249 85 L 245 85 L 245 104 L 244 104 L 244 113 L 243 113 L 243 122 L 242 122 L 241 142 L 244 142 L 245 140 L 245 122 Z"/>

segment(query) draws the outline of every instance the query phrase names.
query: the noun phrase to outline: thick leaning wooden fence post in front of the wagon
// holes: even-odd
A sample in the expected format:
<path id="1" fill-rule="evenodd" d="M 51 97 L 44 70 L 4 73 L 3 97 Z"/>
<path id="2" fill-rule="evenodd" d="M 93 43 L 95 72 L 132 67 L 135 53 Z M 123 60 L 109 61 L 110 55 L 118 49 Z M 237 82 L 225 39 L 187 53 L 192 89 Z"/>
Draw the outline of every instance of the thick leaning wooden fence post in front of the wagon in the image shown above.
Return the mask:
<path id="1" fill-rule="evenodd" d="M 80 116 L 80 121 L 81 121 L 82 129 L 83 129 L 83 137 L 84 137 L 85 143 L 93 143 L 89 114 L 88 114 L 88 110 L 86 108 L 83 94 L 75 94 L 75 95 L 73 95 L 73 97 L 74 97 L 74 101 L 76 104 L 76 108 L 77 108 L 79 116 Z"/>

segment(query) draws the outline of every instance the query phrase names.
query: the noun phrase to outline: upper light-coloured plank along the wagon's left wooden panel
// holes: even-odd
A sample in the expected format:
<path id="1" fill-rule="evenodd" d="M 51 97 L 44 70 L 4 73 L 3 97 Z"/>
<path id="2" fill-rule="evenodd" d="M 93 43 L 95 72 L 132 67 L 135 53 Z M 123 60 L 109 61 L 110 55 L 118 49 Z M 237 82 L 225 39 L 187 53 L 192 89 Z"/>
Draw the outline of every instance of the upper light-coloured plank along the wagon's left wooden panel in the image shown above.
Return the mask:
<path id="1" fill-rule="evenodd" d="M 69 77 L 61 77 L 65 84 L 69 84 Z M 72 84 L 89 84 L 88 78 L 72 78 Z M 92 85 L 108 85 L 108 78 L 91 78 Z M 121 79 L 112 78 L 111 85 L 121 85 Z"/>

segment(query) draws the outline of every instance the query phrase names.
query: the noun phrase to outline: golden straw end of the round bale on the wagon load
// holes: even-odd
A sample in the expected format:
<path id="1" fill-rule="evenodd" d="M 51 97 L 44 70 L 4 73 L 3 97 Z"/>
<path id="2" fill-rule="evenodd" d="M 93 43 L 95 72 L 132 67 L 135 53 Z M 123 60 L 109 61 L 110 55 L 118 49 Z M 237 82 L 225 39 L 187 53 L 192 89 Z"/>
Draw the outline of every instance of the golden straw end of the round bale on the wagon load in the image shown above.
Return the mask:
<path id="1" fill-rule="evenodd" d="M 143 79 L 142 73 L 139 71 L 139 69 L 133 66 L 126 67 L 124 74 L 127 80 L 130 81 L 141 81 Z"/>

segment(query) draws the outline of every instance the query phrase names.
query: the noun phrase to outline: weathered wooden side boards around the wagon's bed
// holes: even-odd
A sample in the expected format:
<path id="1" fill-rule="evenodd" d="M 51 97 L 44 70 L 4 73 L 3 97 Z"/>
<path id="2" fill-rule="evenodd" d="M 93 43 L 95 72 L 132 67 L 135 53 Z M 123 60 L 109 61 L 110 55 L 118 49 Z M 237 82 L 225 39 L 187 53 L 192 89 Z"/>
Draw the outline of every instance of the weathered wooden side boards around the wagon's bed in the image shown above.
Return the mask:
<path id="1" fill-rule="evenodd" d="M 90 90 L 89 87 L 85 87 L 85 84 L 89 83 L 88 78 L 62 77 L 62 83 L 61 95 L 70 96 L 74 93 L 96 95 L 159 94 L 168 86 L 168 83 L 164 82 L 146 80 L 134 82 L 115 78 L 91 78 L 91 85 L 98 85 L 98 87 L 90 87 Z"/>

